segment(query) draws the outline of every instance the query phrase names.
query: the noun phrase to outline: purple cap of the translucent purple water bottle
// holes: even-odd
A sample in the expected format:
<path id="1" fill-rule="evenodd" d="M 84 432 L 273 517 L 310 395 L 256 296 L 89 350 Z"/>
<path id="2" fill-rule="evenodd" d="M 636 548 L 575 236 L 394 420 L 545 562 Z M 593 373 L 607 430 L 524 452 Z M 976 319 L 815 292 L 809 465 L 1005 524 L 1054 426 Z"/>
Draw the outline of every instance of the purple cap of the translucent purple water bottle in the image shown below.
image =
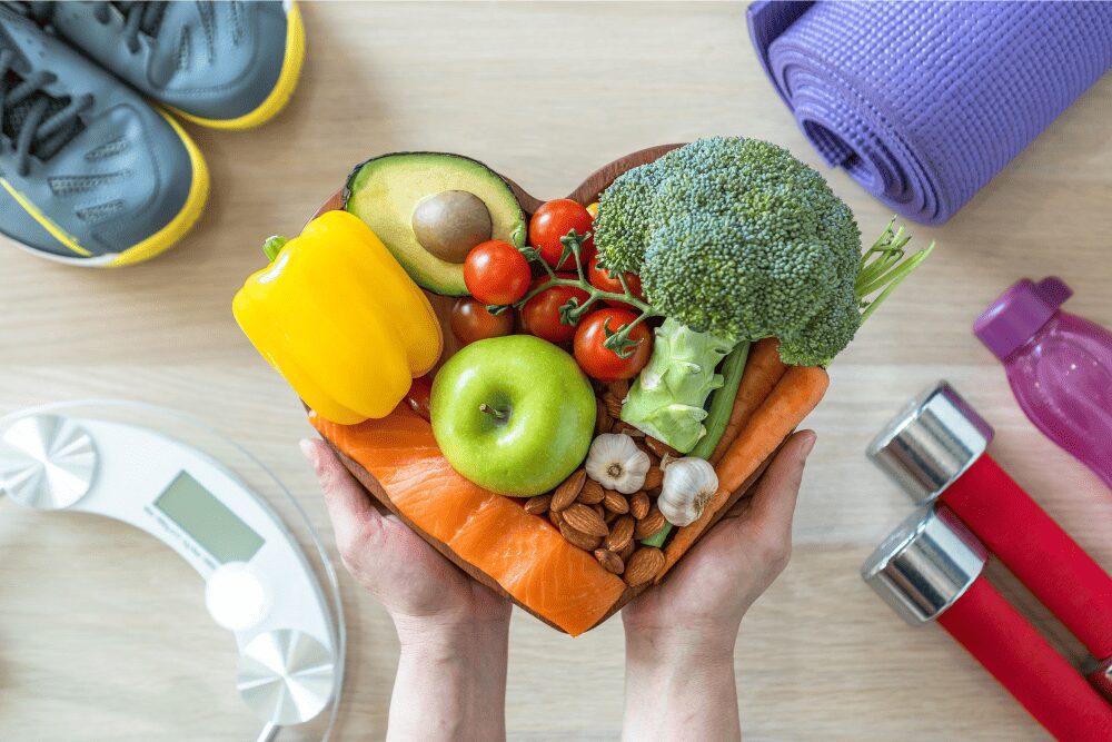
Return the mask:
<path id="1" fill-rule="evenodd" d="M 1003 360 L 1039 332 L 1073 296 L 1061 278 L 1017 280 L 973 323 L 973 334 Z"/>

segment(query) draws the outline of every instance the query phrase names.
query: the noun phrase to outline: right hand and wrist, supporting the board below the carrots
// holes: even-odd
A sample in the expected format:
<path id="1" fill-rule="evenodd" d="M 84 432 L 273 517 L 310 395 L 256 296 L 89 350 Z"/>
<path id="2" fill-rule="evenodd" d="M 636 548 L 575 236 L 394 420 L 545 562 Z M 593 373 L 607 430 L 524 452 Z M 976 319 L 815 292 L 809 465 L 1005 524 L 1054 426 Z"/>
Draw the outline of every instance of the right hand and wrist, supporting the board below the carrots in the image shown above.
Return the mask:
<path id="1" fill-rule="evenodd" d="M 742 616 L 787 566 L 812 431 L 792 436 L 661 585 L 622 611 L 627 739 L 739 739 L 734 644 Z"/>

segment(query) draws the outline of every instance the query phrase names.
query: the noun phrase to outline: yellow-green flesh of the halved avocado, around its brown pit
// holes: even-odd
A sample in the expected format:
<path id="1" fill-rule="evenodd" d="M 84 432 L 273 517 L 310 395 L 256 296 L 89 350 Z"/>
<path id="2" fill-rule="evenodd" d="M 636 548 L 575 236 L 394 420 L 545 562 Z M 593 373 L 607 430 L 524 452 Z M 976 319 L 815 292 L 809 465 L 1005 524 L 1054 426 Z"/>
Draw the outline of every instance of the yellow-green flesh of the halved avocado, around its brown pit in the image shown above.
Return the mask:
<path id="1" fill-rule="evenodd" d="M 418 285 L 436 294 L 467 296 L 464 264 L 425 249 L 413 226 L 420 202 L 445 191 L 481 199 L 490 212 L 489 239 L 525 245 L 525 212 L 513 189 L 487 166 L 459 155 L 397 152 L 371 158 L 351 170 L 344 208 L 370 227 Z"/>

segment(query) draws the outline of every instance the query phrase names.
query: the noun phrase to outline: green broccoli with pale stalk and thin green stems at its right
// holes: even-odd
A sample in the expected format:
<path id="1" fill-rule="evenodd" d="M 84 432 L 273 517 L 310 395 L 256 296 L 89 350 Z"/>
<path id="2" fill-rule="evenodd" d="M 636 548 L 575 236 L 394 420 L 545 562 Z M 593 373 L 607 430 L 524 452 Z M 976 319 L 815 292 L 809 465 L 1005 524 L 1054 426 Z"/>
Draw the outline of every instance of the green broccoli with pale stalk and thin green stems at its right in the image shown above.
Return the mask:
<path id="1" fill-rule="evenodd" d="M 619 176 L 594 229 L 602 264 L 641 276 L 646 313 L 713 334 L 708 349 L 777 337 L 782 359 L 805 366 L 828 364 L 931 250 L 903 260 L 909 238 L 890 225 L 862 254 L 852 211 L 821 175 L 742 138 L 698 140 Z M 691 360 L 699 378 L 717 364 L 716 354 Z M 623 419 L 691 451 L 711 388 L 645 380 L 656 376 L 633 386 Z"/>

